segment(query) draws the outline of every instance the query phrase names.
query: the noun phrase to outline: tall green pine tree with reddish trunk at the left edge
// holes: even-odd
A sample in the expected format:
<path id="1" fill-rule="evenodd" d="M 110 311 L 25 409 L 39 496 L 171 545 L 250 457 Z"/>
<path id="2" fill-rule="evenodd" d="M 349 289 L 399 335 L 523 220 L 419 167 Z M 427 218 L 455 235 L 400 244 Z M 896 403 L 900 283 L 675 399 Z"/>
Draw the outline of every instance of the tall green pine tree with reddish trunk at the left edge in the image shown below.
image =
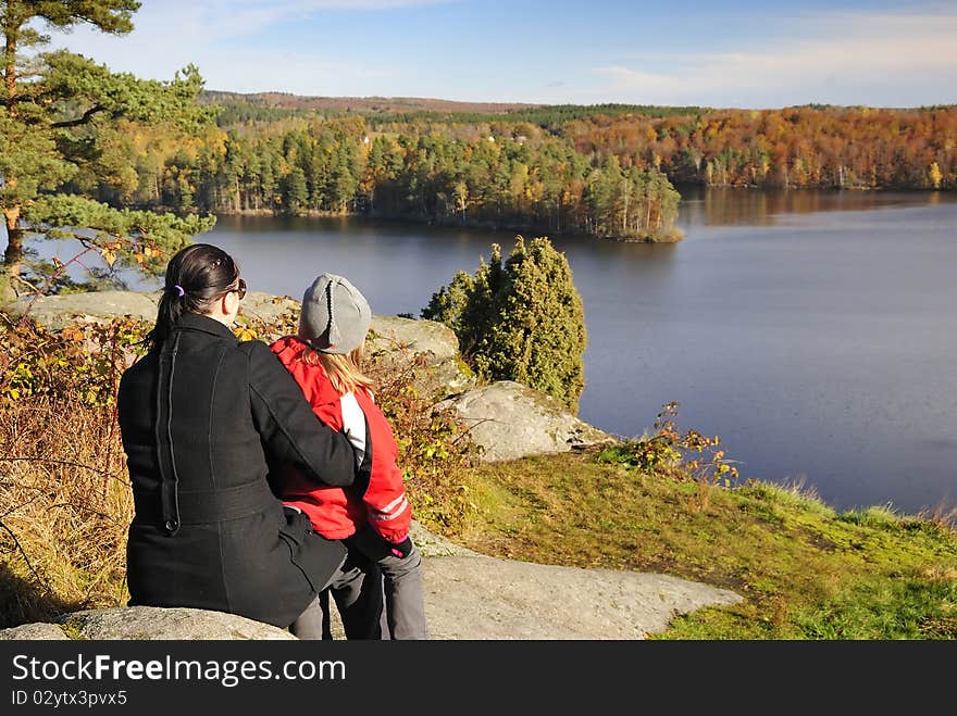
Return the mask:
<path id="1" fill-rule="evenodd" d="M 171 131 L 189 133 L 211 116 L 195 103 L 202 79 L 191 65 L 171 81 L 140 80 L 78 54 L 40 51 L 50 41 L 40 29 L 90 25 L 125 35 L 139 4 L 0 0 L 0 209 L 8 239 L 4 268 L 14 284 L 22 281 L 27 233 L 75 238 L 111 265 L 124 257 L 159 271 L 166 254 L 213 225 L 214 219 L 191 214 L 116 209 L 90 198 L 77 181 L 84 167 L 102 159 L 104 138 L 119 122 L 165 124 Z"/>

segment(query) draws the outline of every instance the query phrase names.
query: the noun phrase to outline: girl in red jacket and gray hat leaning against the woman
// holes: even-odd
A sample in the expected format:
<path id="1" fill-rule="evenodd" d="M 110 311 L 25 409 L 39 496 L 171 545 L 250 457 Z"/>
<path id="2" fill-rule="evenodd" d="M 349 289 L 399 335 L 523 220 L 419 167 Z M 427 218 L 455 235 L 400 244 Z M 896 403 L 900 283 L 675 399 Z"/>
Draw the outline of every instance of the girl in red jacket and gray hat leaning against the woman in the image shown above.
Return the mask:
<path id="1" fill-rule="evenodd" d="M 298 336 L 271 346 L 319 419 L 349 438 L 359 466 L 348 490 L 319 486 L 293 467 L 282 470 L 276 487 L 316 532 L 344 540 L 378 564 L 391 639 L 425 639 L 422 557 L 409 538 L 412 508 L 396 464 L 398 444 L 361 369 L 371 322 L 369 303 L 355 286 L 322 274 L 302 299 Z M 333 596 L 338 604 L 335 586 Z"/>

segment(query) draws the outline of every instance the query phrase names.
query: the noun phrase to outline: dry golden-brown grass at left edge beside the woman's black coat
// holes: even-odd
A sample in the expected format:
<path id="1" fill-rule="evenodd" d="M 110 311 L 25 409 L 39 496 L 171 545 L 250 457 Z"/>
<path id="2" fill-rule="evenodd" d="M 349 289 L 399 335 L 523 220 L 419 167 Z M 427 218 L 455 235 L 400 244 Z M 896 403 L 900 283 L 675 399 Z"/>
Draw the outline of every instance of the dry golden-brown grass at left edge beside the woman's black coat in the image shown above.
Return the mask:
<path id="1" fill-rule="evenodd" d="M 0 409 L 0 627 L 127 599 L 133 493 L 111 407 Z"/>

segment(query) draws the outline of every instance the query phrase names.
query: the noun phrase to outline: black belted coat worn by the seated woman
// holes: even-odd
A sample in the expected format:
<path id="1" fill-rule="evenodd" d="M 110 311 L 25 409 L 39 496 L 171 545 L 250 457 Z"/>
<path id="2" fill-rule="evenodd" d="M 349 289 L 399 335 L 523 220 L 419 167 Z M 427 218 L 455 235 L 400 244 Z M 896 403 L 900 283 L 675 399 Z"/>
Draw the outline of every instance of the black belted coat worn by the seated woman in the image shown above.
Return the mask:
<path id="1" fill-rule="evenodd" d="M 136 503 L 129 603 L 291 624 L 346 550 L 283 508 L 268 459 L 345 486 L 348 440 L 319 422 L 265 343 L 197 314 L 124 373 L 119 412 Z"/>

